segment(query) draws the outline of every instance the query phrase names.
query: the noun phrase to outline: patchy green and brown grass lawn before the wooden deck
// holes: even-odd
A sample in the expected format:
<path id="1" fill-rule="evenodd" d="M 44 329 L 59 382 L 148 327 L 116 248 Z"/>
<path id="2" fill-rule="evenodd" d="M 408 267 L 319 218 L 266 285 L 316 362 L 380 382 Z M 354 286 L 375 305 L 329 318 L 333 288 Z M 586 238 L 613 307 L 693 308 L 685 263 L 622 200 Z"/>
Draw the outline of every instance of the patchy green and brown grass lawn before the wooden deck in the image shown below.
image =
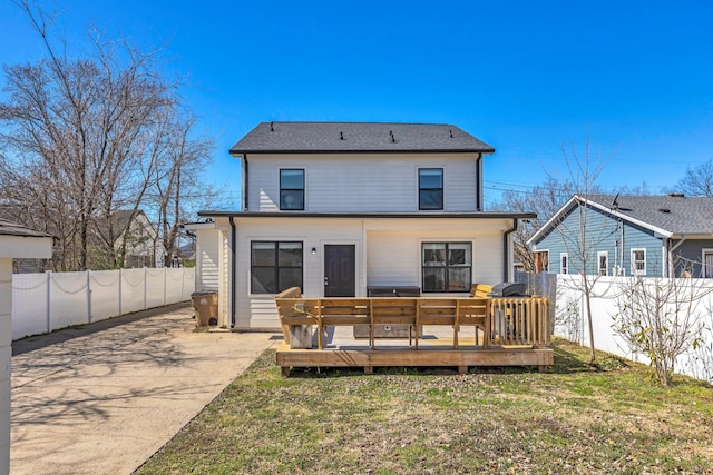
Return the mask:
<path id="1" fill-rule="evenodd" d="M 554 344 L 529 368 L 294 370 L 266 352 L 140 474 L 713 474 L 713 388 Z"/>

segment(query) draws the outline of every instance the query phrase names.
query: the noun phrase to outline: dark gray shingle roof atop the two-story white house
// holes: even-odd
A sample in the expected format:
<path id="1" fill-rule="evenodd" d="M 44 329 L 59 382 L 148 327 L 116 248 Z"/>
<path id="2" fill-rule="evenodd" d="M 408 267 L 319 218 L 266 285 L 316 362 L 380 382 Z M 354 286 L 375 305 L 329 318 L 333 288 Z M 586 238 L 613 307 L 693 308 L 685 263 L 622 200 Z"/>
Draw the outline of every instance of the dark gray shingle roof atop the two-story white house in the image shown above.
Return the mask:
<path id="1" fill-rule="evenodd" d="M 495 151 L 462 129 L 433 123 L 262 122 L 231 148 L 251 152 Z"/>

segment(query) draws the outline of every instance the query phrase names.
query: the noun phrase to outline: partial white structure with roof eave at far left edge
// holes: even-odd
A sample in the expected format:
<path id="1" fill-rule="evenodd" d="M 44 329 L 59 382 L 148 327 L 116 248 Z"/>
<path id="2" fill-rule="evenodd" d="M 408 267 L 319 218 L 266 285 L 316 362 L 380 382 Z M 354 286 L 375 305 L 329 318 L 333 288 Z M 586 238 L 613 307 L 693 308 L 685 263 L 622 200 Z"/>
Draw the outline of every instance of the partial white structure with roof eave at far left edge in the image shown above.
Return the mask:
<path id="1" fill-rule="evenodd" d="M 0 474 L 10 472 L 12 259 L 52 257 L 52 238 L 0 219 Z"/>

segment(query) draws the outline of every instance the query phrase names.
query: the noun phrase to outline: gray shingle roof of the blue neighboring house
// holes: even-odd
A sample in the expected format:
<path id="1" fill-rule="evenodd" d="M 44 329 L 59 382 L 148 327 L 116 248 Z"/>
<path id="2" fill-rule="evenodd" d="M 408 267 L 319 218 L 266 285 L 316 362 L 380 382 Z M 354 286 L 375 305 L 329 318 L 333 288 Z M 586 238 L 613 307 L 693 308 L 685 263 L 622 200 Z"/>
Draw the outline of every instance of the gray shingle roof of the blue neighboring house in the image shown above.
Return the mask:
<path id="1" fill-rule="evenodd" d="M 589 195 L 589 200 L 676 235 L 713 234 L 713 197 Z"/>

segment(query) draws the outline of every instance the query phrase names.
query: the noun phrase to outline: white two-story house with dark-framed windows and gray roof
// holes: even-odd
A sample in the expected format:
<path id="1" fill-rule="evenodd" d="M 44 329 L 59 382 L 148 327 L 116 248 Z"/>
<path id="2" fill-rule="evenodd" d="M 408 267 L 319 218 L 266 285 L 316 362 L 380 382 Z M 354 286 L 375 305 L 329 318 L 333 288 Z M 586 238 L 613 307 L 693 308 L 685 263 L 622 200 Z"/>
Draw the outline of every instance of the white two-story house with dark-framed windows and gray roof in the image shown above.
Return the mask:
<path id="1" fill-rule="evenodd" d="M 449 125 L 264 122 L 233 148 L 242 210 L 202 211 L 197 289 L 218 325 L 279 328 L 274 294 L 367 296 L 374 286 L 467 296 L 511 280 L 511 236 L 534 214 L 488 212 L 495 151 Z"/>

